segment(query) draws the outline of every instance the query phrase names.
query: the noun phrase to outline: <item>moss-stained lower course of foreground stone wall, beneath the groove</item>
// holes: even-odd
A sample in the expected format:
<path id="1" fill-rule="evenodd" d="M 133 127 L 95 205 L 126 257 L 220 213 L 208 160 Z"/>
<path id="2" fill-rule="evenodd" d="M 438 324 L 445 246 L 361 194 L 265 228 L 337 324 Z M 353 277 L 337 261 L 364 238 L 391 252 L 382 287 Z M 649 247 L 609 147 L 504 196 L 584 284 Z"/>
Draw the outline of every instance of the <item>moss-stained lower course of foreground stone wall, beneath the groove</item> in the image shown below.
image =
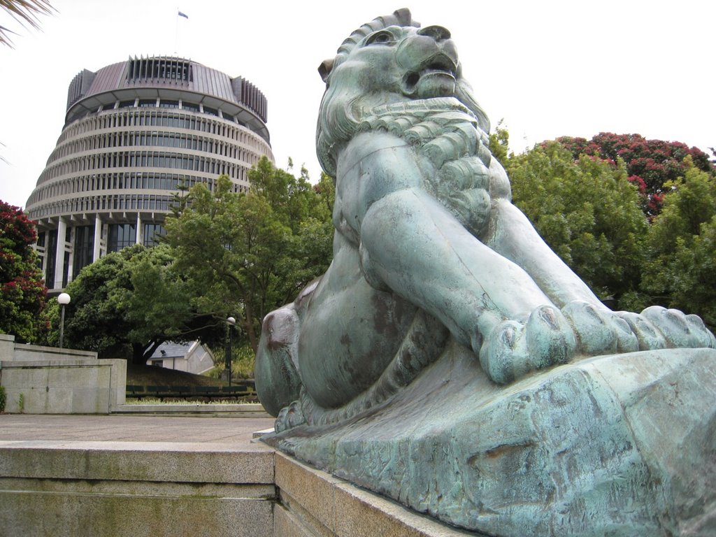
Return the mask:
<path id="1" fill-rule="evenodd" d="M 0 486 L 5 535 L 274 537 L 268 485 L 0 478 Z"/>

